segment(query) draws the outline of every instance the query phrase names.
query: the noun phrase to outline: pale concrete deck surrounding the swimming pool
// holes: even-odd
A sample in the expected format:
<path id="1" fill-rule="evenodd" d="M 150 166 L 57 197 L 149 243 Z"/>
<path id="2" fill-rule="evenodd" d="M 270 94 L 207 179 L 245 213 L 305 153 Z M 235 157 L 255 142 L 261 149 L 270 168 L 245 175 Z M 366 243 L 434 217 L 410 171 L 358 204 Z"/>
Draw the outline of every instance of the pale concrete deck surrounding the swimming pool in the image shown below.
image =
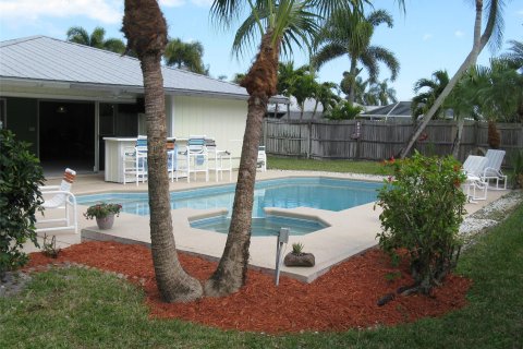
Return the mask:
<path id="1" fill-rule="evenodd" d="M 236 173 L 233 173 L 235 178 Z M 257 180 L 276 179 L 284 177 L 330 177 L 342 179 L 374 180 L 381 181 L 376 176 L 354 174 L 354 173 L 326 173 L 312 171 L 278 171 L 268 170 L 258 172 Z M 203 180 L 187 183 L 185 180 L 170 183 L 170 190 L 186 190 L 202 186 L 212 186 L 230 184 L 228 181 L 215 182 L 211 176 L 209 182 Z M 59 183 L 60 179 L 49 180 L 49 184 Z M 78 176 L 73 184 L 75 195 L 93 194 L 102 192 L 135 192 L 147 191 L 146 184 L 136 186 L 131 184 L 119 184 L 104 182 L 102 174 Z M 467 204 L 467 214 L 472 214 L 486 204 L 496 201 L 508 191 L 488 192 L 487 201 L 477 204 Z M 78 205 L 78 225 L 82 232 L 74 234 L 73 231 L 56 232 L 57 244 L 66 246 L 80 243 L 86 240 L 113 240 L 124 243 L 150 244 L 149 221 L 146 216 L 132 214 L 120 214 L 115 218 L 114 226 L 110 230 L 99 230 L 94 220 L 87 220 L 83 217 L 86 206 Z M 376 233 L 380 230 L 379 207 L 374 209 L 374 203 L 361 205 L 341 212 L 330 212 L 307 207 L 297 207 L 292 209 L 268 208 L 270 213 L 289 216 L 307 216 L 325 221 L 329 227 L 305 234 L 291 236 L 287 246 L 288 253 L 292 250 L 293 242 L 301 242 L 305 246 L 305 252 L 312 252 L 316 257 L 314 267 L 285 267 L 282 266 L 281 274 L 301 281 L 311 282 L 318 276 L 328 272 L 331 266 L 341 263 L 349 257 L 362 253 L 377 244 Z M 227 234 L 212 231 L 195 229 L 190 227 L 190 218 L 212 216 L 223 213 L 221 209 L 191 209 L 181 208 L 171 210 L 174 227 L 174 239 L 179 251 L 200 255 L 203 257 L 218 261 L 226 244 Z M 39 233 L 42 236 L 44 232 Z M 276 237 L 252 237 L 251 240 L 251 260 L 250 267 L 260 269 L 267 273 L 273 273 L 276 261 Z M 28 251 L 36 249 L 28 246 Z"/>

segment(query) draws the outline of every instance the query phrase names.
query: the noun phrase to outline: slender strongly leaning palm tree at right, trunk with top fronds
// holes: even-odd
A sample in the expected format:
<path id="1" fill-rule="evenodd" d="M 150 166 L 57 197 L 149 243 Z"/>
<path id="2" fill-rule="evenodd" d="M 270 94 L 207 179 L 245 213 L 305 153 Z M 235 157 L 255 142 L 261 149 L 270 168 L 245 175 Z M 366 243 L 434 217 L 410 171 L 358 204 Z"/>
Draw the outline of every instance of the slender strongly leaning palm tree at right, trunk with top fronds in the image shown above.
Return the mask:
<path id="1" fill-rule="evenodd" d="M 400 157 L 404 158 L 416 140 L 422 134 L 423 130 L 427 127 L 430 119 L 436 115 L 437 110 L 441 107 L 445 101 L 445 98 L 450 94 L 454 85 L 458 83 L 460 77 L 466 72 L 466 70 L 476 64 L 477 56 L 482 52 L 485 46 L 490 43 L 492 48 L 498 48 L 502 41 L 502 27 L 503 21 L 501 17 L 501 12 L 504 7 L 503 0 L 487 0 L 486 8 L 488 9 L 488 19 L 483 34 L 482 31 L 482 17 L 483 17 L 483 0 L 475 0 L 475 20 L 474 20 L 474 41 L 473 47 L 469 56 L 465 58 L 461 67 L 455 72 L 454 76 L 449 81 L 447 86 L 443 88 L 441 94 L 436 98 L 433 104 L 433 107 L 425 113 L 422 122 L 418 124 L 416 130 L 413 132 L 411 139 L 406 146 L 400 152 Z M 490 38 L 494 35 L 494 40 Z"/>

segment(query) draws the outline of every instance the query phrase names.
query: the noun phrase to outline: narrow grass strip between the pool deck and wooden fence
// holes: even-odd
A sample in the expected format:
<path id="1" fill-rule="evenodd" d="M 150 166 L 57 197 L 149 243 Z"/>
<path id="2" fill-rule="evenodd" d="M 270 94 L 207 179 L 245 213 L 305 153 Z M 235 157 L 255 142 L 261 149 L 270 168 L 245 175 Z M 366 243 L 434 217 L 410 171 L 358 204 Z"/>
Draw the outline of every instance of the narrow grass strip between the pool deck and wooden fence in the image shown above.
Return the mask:
<path id="1" fill-rule="evenodd" d="M 267 165 L 270 169 L 299 171 L 352 172 L 366 174 L 391 174 L 391 169 L 378 161 L 354 160 L 315 160 L 269 156 Z"/>

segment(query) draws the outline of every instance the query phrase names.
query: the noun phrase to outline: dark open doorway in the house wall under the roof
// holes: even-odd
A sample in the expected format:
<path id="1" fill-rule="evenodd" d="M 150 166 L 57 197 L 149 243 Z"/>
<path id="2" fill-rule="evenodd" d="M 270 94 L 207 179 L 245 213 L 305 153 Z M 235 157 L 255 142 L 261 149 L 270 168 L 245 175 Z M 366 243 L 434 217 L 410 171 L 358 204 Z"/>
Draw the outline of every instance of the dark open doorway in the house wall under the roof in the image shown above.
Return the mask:
<path id="1" fill-rule="evenodd" d="M 95 103 L 39 103 L 39 158 L 46 177 L 95 167 Z"/>

